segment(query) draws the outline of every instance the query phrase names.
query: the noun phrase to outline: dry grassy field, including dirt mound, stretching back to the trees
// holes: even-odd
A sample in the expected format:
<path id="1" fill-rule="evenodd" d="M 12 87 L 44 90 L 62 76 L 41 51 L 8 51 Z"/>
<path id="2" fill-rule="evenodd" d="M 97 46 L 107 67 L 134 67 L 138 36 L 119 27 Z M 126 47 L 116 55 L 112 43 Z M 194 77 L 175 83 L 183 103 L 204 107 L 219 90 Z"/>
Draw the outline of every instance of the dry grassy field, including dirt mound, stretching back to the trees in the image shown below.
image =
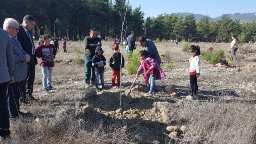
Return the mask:
<path id="1" fill-rule="evenodd" d="M 210 46 L 231 55 L 229 43 L 197 44 L 201 50 Z M 111 54 L 111 42 L 102 42 L 104 56 Z M 46 144 L 254 144 L 256 143 L 256 45 L 240 46 L 230 68 L 213 67 L 202 60 L 198 78 L 199 96 L 194 101 L 184 99 L 189 94 L 188 68 L 190 54 L 183 52 L 185 43 L 156 43 L 159 54 L 164 54 L 161 68 L 166 78 L 156 81 L 158 92 L 150 99 L 144 92 L 134 90 L 123 96 L 124 121 L 116 112 L 119 108 L 118 89 L 111 88 L 111 69 L 106 65 L 107 90 L 97 96 L 86 97 L 84 65 L 65 64 L 75 59 L 80 51 L 84 58 L 82 42 L 67 42 L 67 52 L 58 50 L 52 74 L 56 90 L 44 94 L 42 71 L 36 66 L 34 97 L 39 102 L 21 105 L 21 111 L 30 110 L 31 116 L 11 122 L 12 140 L 6 143 Z M 247 47 L 246 47 L 247 46 Z M 142 50 L 140 46 L 138 50 Z M 122 52 L 125 60 L 125 49 Z M 168 66 L 172 62 L 172 67 Z M 126 61 L 127 64 L 127 61 Z M 241 70 L 238 70 L 238 69 Z M 122 89 L 127 92 L 134 75 L 124 68 Z M 140 76 L 136 85 L 144 85 Z M 171 98 L 164 90 L 174 86 L 178 95 Z M 132 100 L 132 102 L 131 102 Z M 170 138 L 162 129 L 168 125 L 186 125 L 188 131 L 177 138 Z"/>

